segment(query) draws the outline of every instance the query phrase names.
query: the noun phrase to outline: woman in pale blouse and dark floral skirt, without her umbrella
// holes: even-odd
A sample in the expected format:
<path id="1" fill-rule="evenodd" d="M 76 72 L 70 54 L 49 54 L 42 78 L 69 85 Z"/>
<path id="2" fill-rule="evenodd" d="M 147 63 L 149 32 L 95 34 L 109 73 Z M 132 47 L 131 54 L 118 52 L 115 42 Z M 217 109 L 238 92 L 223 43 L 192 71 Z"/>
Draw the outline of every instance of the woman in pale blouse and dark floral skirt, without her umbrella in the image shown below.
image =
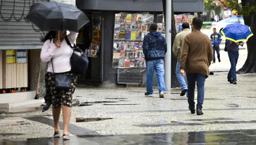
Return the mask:
<path id="1" fill-rule="evenodd" d="M 48 63 L 47 74 L 45 75 L 46 96 L 45 103 L 48 108 L 52 105 L 52 114 L 54 117 L 54 137 L 60 137 L 59 133 L 59 117 L 63 114 L 63 139 L 68 140 L 68 127 L 71 119 L 72 96 L 75 92 L 77 84 L 77 75 L 71 73 L 71 55 L 73 49 L 68 46 L 65 38 L 68 37 L 69 42 L 73 45 L 78 33 L 70 32 L 68 36 L 66 31 L 50 31 L 44 37 L 44 45 L 40 58 L 43 62 Z M 53 64 L 52 64 L 53 63 Z M 54 70 L 53 70 L 54 67 Z M 73 78 L 71 87 L 68 90 L 57 90 L 54 87 L 54 73 L 62 73 L 70 75 Z"/>

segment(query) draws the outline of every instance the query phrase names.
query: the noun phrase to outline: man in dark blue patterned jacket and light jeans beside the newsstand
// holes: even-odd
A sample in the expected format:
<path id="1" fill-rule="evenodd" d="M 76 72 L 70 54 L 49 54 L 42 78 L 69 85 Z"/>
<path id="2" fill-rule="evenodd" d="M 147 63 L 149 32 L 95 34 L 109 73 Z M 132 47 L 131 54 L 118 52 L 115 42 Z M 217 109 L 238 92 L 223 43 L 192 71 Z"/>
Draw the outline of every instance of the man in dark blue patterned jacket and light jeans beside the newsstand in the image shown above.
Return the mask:
<path id="1" fill-rule="evenodd" d="M 155 70 L 159 97 L 164 98 L 164 57 L 167 47 L 166 39 L 160 32 L 157 32 L 156 23 L 150 24 L 150 33 L 144 37 L 142 48 L 147 67 L 147 92 L 145 92 L 145 96 L 152 96 L 153 94 L 153 75 Z"/>

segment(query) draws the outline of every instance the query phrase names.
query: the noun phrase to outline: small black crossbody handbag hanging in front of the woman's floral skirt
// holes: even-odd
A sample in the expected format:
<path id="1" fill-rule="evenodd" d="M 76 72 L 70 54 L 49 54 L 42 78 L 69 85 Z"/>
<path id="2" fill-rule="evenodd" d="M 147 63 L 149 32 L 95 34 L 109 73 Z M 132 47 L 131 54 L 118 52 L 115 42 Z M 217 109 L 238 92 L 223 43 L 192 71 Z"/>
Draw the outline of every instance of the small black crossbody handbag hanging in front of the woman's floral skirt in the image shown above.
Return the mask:
<path id="1" fill-rule="evenodd" d="M 54 73 L 54 63 L 52 63 L 52 58 L 51 58 L 51 66 L 52 66 L 52 71 Z M 65 73 L 54 73 L 53 80 L 54 80 L 54 87 L 56 90 L 68 90 L 71 88 L 73 77 L 71 75 L 66 75 Z"/>

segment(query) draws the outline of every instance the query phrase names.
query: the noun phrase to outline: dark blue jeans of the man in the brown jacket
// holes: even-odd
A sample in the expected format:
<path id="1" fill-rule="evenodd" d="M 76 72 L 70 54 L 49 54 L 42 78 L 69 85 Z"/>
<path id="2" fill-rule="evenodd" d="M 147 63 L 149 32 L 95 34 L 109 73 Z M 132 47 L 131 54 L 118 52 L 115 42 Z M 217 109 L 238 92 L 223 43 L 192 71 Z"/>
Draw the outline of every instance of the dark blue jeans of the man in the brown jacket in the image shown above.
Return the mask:
<path id="1" fill-rule="evenodd" d="M 195 82 L 197 82 L 197 108 L 202 109 L 205 98 L 205 79 L 206 75 L 199 73 L 187 73 L 188 77 L 188 104 L 195 108 Z"/>

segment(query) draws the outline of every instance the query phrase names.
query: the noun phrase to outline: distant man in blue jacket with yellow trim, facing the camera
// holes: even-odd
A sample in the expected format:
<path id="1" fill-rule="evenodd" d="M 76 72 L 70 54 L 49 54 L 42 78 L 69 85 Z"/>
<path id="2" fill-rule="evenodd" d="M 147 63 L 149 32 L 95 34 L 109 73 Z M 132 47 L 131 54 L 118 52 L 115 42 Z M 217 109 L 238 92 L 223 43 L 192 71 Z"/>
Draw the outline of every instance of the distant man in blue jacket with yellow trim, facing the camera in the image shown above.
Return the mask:
<path id="1" fill-rule="evenodd" d="M 221 62 L 221 56 L 219 55 L 219 44 L 221 44 L 221 34 L 216 32 L 216 28 L 213 28 L 213 32 L 210 36 L 211 42 L 212 42 L 212 49 L 214 53 L 213 63 L 215 63 L 215 51 L 217 52 L 217 57 L 219 59 L 219 62 Z"/>

